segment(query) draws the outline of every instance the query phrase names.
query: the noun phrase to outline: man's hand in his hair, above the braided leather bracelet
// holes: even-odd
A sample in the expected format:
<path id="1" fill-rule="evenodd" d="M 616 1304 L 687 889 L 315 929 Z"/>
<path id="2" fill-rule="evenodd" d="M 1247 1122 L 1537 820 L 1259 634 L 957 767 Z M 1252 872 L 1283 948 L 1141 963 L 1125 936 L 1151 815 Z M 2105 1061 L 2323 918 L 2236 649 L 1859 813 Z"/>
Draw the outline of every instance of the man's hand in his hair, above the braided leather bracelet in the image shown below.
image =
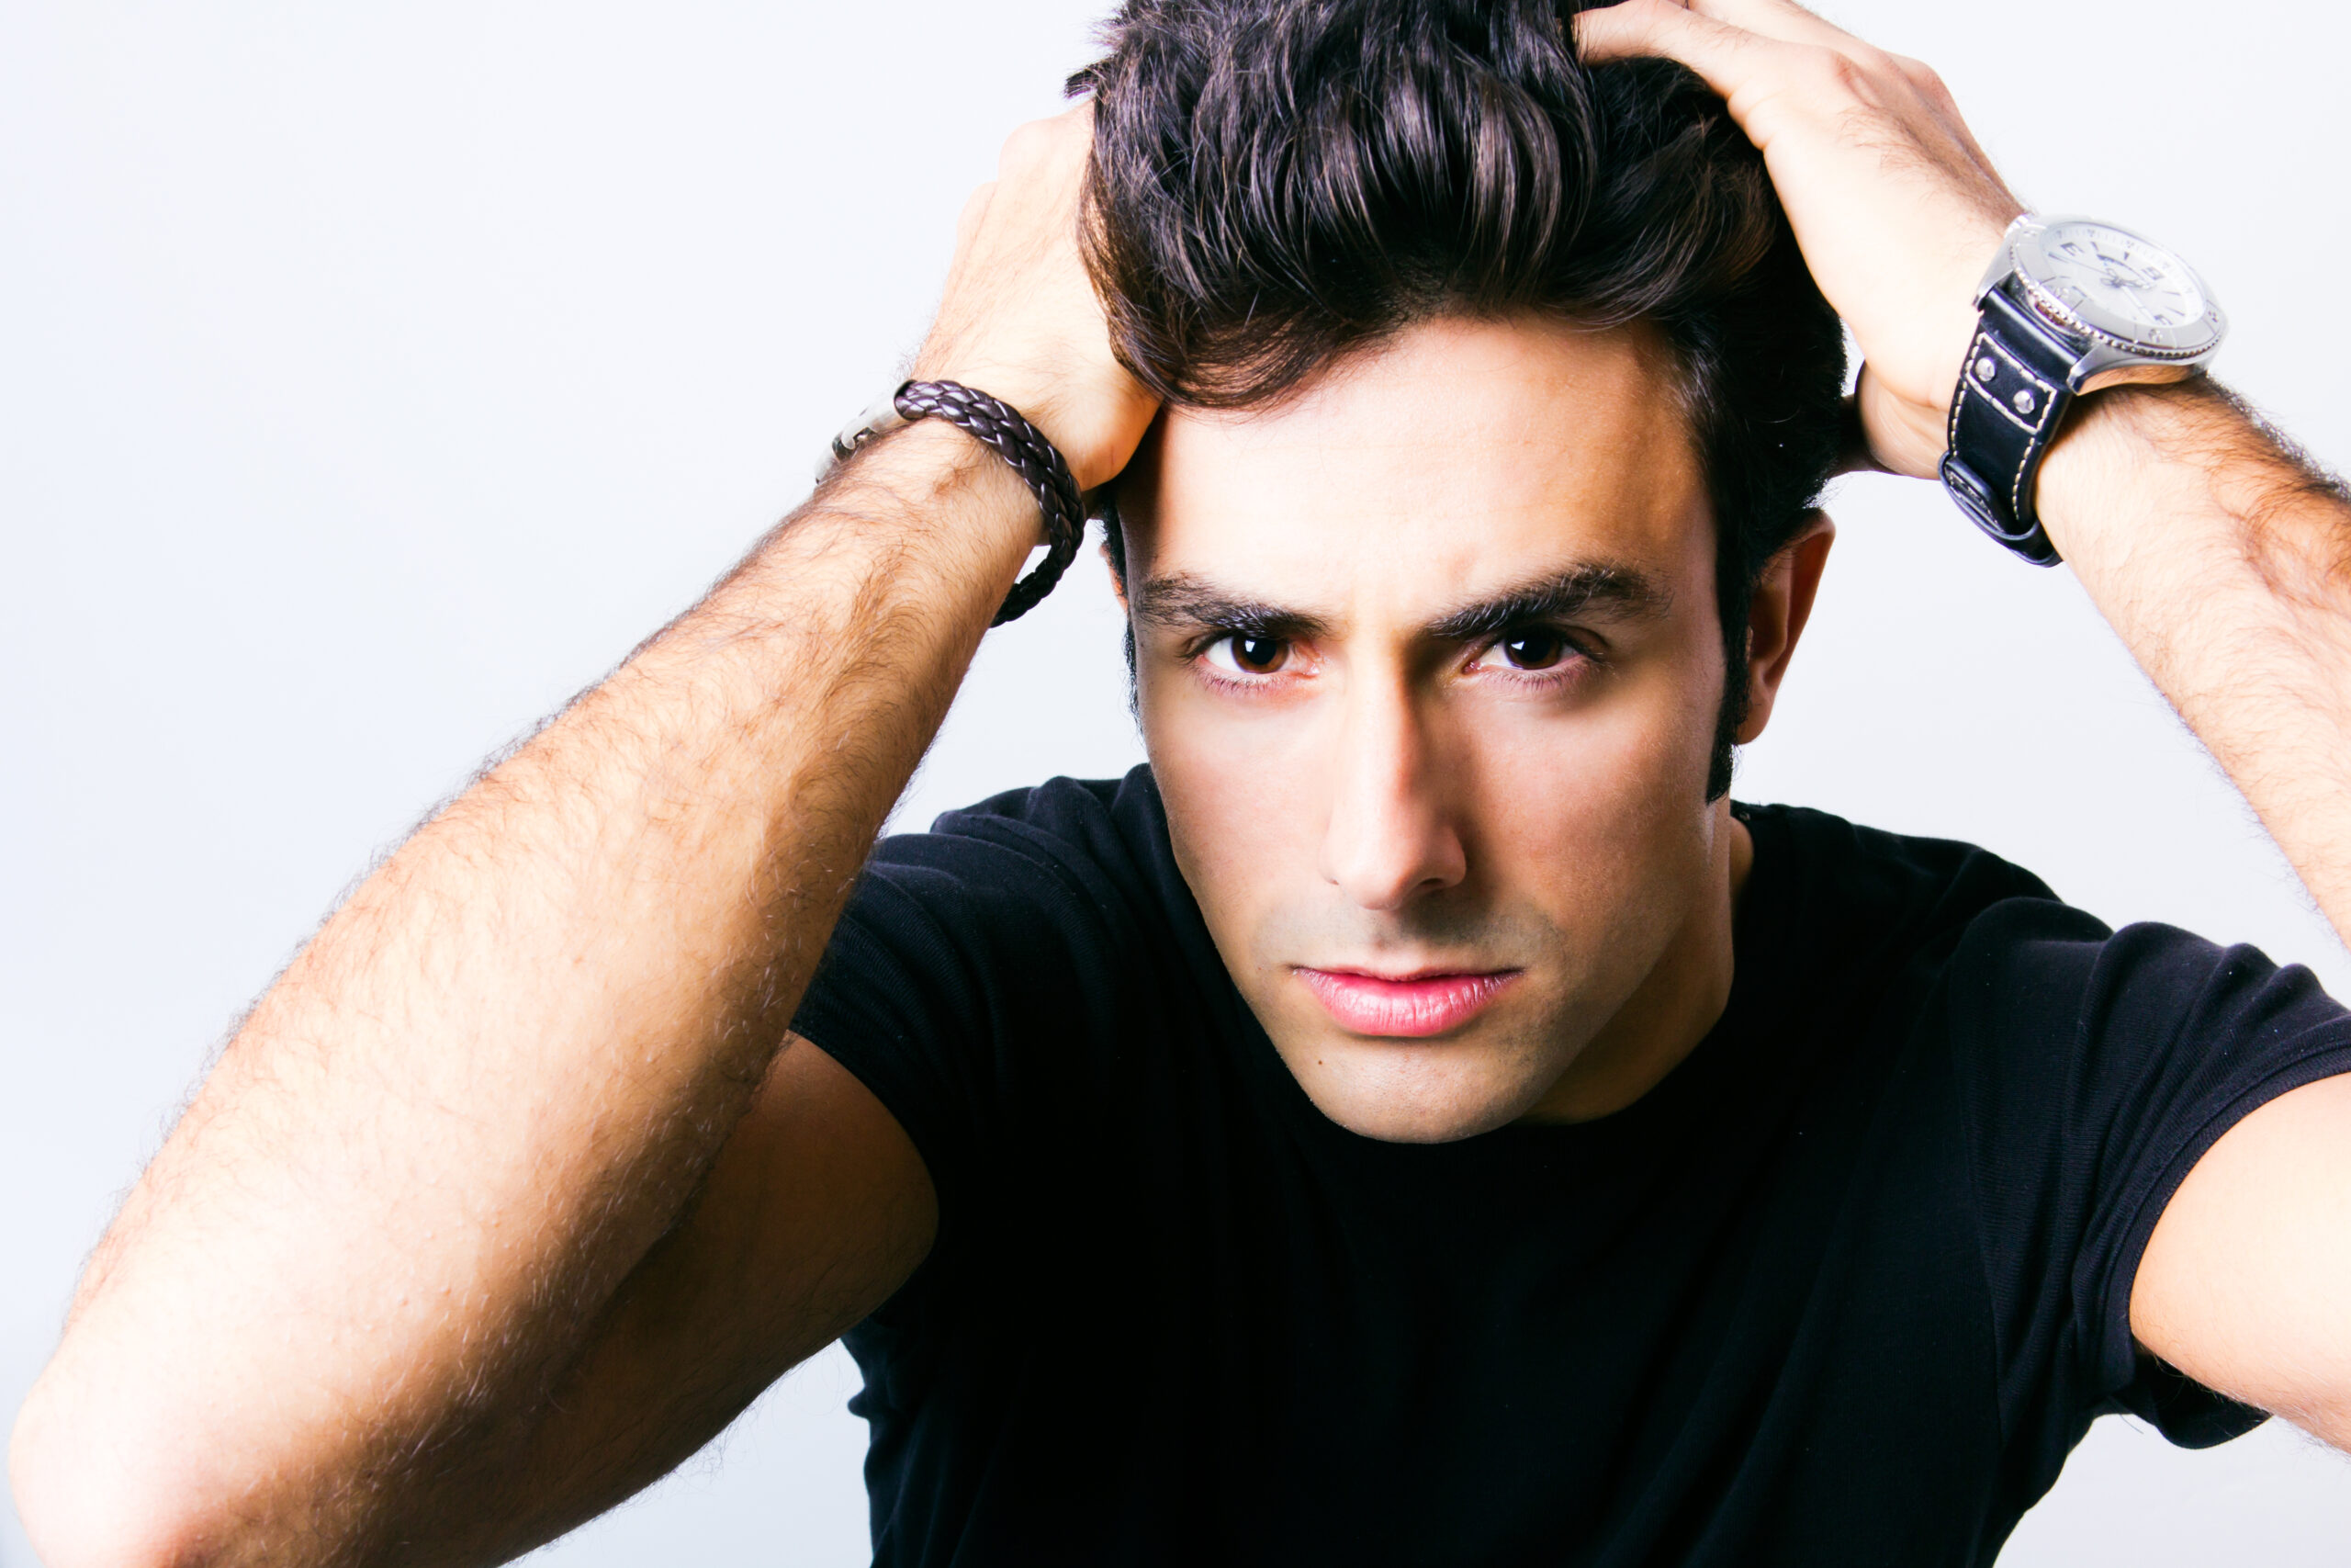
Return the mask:
<path id="1" fill-rule="evenodd" d="M 915 357 L 917 378 L 962 381 L 1020 409 L 1079 489 L 1126 468 L 1159 407 L 1112 357 L 1079 261 L 1091 146 L 1091 103 L 1011 134 L 997 179 L 964 202 L 945 299 Z"/>

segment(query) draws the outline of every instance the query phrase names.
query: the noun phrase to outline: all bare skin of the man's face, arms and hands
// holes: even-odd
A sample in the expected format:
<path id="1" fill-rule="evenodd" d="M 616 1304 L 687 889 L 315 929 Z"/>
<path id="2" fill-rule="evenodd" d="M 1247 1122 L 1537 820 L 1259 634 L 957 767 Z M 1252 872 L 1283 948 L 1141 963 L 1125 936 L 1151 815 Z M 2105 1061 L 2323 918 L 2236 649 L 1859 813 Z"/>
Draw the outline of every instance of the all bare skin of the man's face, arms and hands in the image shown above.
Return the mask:
<path id="1" fill-rule="evenodd" d="M 1627 0 L 1575 28 L 1594 59 L 1674 56 L 1728 99 L 1867 357 L 1869 461 L 1928 475 L 1968 294 L 2015 212 L 1933 73 L 1784 0 Z M 1154 409 L 1077 261 L 1086 146 L 1084 108 L 1013 136 L 966 207 L 917 371 L 1013 402 L 1091 487 Z M 1523 428 L 1460 386 L 1460 407 L 1420 411 L 1467 421 L 1467 449 L 1385 454 L 1392 425 L 1345 428 L 1349 407 L 1413 400 L 1404 369 L 1481 355 L 1561 409 L 1646 374 L 1622 339 L 1432 324 L 1288 414 L 1171 416 L 1157 480 L 1138 473 L 1145 724 L 1185 870 L 1300 1081 L 1380 1135 L 1606 1114 L 1712 1023 L 1735 957 L 1744 860 L 1702 802 L 1697 741 L 1723 670 L 1700 654 L 1669 435 L 1620 428 L 1657 458 L 1650 487 L 1585 449 L 1547 458 L 1563 489 L 1535 503 L 1483 444 L 1523 447 Z M 1208 505 L 1218 480 L 1187 454 L 1272 463 L 1284 442 L 1331 484 L 1380 461 L 1401 498 L 1483 496 L 1488 534 L 1415 531 L 1357 489 L 1349 538 L 1418 555 L 1333 538 L 1328 515 L 1302 529 L 1324 555 L 1270 548 Z M 2041 512 L 2351 933 L 2351 508 L 2215 393 L 2175 386 L 2088 400 Z M 26 1399 L 9 1467 L 49 1568 L 503 1561 L 675 1465 L 907 1276 L 936 1229 L 922 1161 L 783 1025 L 1034 536 L 1027 494 L 955 430 L 884 440 L 360 886 L 125 1201 Z M 1505 536 L 1507 564 L 1488 548 Z M 1766 698 L 1824 550 L 1815 531 L 1759 595 L 1744 677 Z M 1587 628 L 1617 654 L 1592 679 L 1512 689 L 1429 635 L 1594 552 L 1655 576 L 1672 609 Z M 1147 616 L 1150 583 L 1178 571 L 1317 616 L 1298 682 L 1199 684 Z M 1582 788 L 1578 809 L 1535 811 L 1512 769 Z M 1248 806 L 1270 771 L 1284 813 Z M 1251 839 L 1262 886 L 1241 832 L 1272 835 Z M 1521 853 L 1573 870 L 1535 877 Z M 1521 978 L 1460 1039 L 1406 1046 L 1347 1037 L 1298 994 L 1300 966 L 1389 961 Z M 2342 1081 L 2241 1121 L 2156 1227 L 2142 1342 L 2351 1446 L 2346 1194 Z"/>

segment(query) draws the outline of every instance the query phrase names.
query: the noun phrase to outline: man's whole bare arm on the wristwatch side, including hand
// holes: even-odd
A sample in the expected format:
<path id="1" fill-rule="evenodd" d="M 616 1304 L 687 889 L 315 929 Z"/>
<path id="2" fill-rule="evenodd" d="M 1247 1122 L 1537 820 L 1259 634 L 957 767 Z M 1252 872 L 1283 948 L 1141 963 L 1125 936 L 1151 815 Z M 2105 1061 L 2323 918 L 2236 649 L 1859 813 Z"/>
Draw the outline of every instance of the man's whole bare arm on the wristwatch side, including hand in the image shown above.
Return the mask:
<path id="1" fill-rule="evenodd" d="M 1930 477 L 1972 284 L 2017 212 L 1942 82 L 1791 0 L 1627 0 L 1578 16 L 1578 35 L 1601 59 L 1679 59 L 1728 99 L 1867 357 L 1871 458 Z M 2128 386 L 2081 404 L 2038 510 L 2351 938 L 2342 484 L 2210 383 Z M 2351 1448 L 2351 1079 L 2280 1095 L 2196 1164 L 2130 1316 L 2172 1366 Z"/>

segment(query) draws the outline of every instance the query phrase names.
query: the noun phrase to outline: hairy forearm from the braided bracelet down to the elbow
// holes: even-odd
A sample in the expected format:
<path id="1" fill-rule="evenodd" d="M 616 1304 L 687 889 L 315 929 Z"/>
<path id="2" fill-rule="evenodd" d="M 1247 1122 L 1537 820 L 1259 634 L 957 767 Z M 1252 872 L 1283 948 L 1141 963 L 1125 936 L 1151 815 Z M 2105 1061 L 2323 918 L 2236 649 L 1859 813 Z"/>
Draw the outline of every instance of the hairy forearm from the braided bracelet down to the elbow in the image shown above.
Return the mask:
<path id="1" fill-rule="evenodd" d="M 235 1500 L 212 1561 L 360 1561 L 527 1436 L 750 1103 L 1034 531 L 917 425 L 418 830 L 125 1204 L 19 1486 Z"/>

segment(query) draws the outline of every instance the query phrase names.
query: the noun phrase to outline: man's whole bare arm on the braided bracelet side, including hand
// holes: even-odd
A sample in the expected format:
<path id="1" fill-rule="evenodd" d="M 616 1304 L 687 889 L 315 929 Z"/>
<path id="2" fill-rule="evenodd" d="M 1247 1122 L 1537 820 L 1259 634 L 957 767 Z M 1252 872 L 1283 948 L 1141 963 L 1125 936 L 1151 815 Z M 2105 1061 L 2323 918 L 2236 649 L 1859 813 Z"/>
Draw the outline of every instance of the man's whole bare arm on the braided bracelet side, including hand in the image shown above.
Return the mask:
<path id="1" fill-rule="evenodd" d="M 1150 404 L 1074 254 L 1086 146 L 1084 110 L 1006 146 L 919 364 L 1098 484 Z M 778 1048 L 1034 538 L 969 437 L 882 442 L 360 886 L 132 1192 L 26 1401 L 12 1474 L 52 1568 L 496 1561 L 905 1276 L 919 1161 Z"/>

